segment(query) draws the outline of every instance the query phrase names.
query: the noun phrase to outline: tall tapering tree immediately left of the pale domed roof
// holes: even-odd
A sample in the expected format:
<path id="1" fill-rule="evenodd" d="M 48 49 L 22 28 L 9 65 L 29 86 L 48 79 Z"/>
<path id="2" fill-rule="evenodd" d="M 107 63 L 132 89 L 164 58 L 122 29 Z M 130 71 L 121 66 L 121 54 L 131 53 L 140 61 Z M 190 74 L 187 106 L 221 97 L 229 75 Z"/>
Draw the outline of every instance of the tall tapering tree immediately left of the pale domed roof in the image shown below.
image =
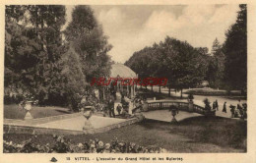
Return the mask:
<path id="1" fill-rule="evenodd" d="M 91 7 L 75 7 L 72 11 L 72 21 L 65 30 L 65 36 L 80 55 L 87 82 L 92 81 L 93 78 L 109 76 L 111 64 L 107 52 L 112 46 L 108 44 L 107 36 L 96 22 Z"/>

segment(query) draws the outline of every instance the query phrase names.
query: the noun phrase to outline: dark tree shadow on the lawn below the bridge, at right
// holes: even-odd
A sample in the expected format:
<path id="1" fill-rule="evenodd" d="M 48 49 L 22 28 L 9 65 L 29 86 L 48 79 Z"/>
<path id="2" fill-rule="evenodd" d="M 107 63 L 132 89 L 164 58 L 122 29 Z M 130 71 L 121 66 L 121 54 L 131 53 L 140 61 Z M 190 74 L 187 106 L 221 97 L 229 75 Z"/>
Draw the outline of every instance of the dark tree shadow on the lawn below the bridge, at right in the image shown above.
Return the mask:
<path id="1" fill-rule="evenodd" d="M 140 123 L 147 130 L 166 131 L 170 135 L 186 136 L 191 141 L 214 143 L 246 151 L 247 122 L 223 117 L 192 117 L 171 124 L 158 120 L 144 120 Z"/>

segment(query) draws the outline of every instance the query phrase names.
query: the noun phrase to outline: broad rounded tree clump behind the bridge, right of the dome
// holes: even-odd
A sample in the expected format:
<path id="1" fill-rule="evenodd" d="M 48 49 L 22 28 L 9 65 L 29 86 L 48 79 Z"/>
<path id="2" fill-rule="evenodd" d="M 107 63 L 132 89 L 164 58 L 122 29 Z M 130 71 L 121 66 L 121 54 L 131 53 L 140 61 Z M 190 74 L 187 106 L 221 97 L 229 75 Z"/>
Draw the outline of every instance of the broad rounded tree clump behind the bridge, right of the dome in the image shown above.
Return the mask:
<path id="1" fill-rule="evenodd" d="M 139 77 L 168 79 L 168 94 L 172 86 L 181 89 L 182 97 L 183 88 L 197 86 L 204 80 L 207 60 L 202 51 L 205 50 L 167 36 L 159 45 L 135 52 L 125 64 Z"/>

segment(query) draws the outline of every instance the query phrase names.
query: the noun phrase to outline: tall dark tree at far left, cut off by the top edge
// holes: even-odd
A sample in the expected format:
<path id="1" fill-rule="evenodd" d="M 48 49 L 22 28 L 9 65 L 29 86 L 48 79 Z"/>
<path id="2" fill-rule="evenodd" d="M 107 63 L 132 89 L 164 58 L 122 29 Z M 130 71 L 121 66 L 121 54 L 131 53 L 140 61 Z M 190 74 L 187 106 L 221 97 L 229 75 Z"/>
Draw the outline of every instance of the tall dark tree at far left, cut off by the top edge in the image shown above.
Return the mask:
<path id="1" fill-rule="evenodd" d="M 40 103 L 58 91 L 56 62 L 64 50 L 60 28 L 65 11 L 58 5 L 6 7 L 5 68 L 17 75 L 16 87 L 31 92 Z"/>

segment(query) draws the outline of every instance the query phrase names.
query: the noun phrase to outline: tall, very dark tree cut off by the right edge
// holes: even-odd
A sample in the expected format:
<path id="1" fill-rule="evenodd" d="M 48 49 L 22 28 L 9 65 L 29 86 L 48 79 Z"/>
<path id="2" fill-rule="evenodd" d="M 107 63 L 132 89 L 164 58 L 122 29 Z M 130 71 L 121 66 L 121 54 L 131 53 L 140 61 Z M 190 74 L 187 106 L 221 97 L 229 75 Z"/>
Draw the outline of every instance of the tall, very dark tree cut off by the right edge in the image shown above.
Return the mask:
<path id="1" fill-rule="evenodd" d="M 236 23 L 225 33 L 224 81 L 229 88 L 247 89 L 247 6 L 239 5 Z"/>

